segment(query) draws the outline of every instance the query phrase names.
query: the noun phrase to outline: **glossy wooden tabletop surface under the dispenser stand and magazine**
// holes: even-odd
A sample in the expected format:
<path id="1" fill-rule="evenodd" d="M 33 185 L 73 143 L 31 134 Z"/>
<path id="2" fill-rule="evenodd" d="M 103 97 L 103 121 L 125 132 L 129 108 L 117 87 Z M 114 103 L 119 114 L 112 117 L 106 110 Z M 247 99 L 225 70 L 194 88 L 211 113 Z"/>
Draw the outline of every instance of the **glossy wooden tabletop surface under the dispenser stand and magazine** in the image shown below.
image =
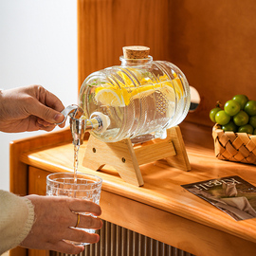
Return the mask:
<path id="1" fill-rule="evenodd" d="M 228 214 L 181 187 L 229 175 L 239 175 L 256 185 L 255 166 L 216 159 L 210 127 L 184 123 L 180 128 L 192 166 L 190 172 L 170 167 L 165 160 L 155 161 L 140 166 L 144 185 L 136 187 L 122 181 L 119 174 L 110 166 L 105 166 L 96 173 L 80 164 L 79 171 L 101 176 L 103 191 L 119 194 L 256 243 L 256 219 L 235 221 Z M 80 163 L 86 141 L 85 139 L 80 148 Z M 70 141 L 28 151 L 21 155 L 21 160 L 49 172 L 73 172 L 73 157 L 74 148 Z"/>

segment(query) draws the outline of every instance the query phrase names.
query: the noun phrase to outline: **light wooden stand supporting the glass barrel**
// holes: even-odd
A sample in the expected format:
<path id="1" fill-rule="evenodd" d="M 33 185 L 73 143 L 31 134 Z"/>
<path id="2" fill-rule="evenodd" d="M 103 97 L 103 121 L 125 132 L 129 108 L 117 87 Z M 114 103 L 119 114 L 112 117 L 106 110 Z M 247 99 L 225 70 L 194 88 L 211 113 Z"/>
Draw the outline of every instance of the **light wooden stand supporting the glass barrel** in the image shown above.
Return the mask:
<path id="1" fill-rule="evenodd" d="M 90 136 L 82 166 L 98 171 L 105 165 L 113 166 L 120 177 L 131 184 L 142 186 L 139 165 L 165 158 L 169 165 L 189 171 L 191 165 L 178 126 L 167 130 L 165 139 L 156 138 L 133 146 L 131 139 L 102 142 Z"/>

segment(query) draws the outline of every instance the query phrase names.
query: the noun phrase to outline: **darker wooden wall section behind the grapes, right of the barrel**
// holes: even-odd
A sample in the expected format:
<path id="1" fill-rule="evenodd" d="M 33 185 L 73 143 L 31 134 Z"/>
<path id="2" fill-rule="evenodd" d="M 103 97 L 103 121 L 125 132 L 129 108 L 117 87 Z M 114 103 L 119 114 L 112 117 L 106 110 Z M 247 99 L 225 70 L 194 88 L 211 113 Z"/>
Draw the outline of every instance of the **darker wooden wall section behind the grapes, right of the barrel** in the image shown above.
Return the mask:
<path id="1" fill-rule="evenodd" d="M 171 61 L 202 97 L 187 119 L 212 125 L 215 102 L 235 94 L 256 100 L 256 4 L 253 0 L 172 1 Z"/>

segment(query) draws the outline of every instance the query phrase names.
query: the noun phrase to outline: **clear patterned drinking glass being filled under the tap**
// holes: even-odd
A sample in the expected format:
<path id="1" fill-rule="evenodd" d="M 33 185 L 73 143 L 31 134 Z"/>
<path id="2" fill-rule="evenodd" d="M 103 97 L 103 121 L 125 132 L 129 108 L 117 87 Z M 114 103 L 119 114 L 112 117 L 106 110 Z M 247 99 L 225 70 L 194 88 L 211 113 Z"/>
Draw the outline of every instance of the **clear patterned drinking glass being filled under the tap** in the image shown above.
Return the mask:
<path id="1" fill-rule="evenodd" d="M 102 179 L 93 174 L 77 173 L 56 173 L 49 174 L 46 177 L 46 195 L 68 196 L 81 198 L 100 204 Z M 83 215 L 91 213 L 80 212 Z M 81 228 L 75 228 L 81 229 Z M 82 229 L 88 233 L 95 233 L 95 229 Z M 69 241 L 70 242 L 70 241 Z M 75 245 L 88 245 L 89 243 L 70 242 Z"/>

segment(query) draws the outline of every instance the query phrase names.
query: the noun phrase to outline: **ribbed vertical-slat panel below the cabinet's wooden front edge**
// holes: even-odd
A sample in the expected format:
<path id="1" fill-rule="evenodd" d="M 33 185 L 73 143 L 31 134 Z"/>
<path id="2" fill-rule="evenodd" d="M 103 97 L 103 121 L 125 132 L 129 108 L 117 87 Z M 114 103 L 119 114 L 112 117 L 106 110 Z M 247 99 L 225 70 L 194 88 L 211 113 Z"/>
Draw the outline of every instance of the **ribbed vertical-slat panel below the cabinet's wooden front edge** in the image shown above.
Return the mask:
<path id="1" fill-rule="evenodd" d="M 88 245 L 79 256 L 193 256 L 184 250 L 168 246 L 152 238 L 113 223 L 103 221 L 98 230 L 99 243 Z M 50 251 L 50 256 L 67 256 L 69 254 Z"/>

